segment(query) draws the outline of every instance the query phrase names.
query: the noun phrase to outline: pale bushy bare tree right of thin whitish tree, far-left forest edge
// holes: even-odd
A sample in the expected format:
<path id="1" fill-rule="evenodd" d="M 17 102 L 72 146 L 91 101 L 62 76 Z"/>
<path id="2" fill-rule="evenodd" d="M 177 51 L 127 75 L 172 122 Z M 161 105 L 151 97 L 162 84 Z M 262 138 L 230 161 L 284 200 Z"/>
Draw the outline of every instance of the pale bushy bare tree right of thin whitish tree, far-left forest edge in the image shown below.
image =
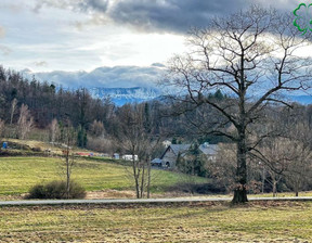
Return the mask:
<path id="1" fill-rule="evenodd" d="M 34 119 L 30 115 L 30 111 L 28 110 L 28 106 L 25 104 L 22 104 L 21 111 L 20 111 L 20 118 L 17 122 L 17 136 L 18 139 L 25 139 L 26 136 L 29 133 L 34 126 Z"/>

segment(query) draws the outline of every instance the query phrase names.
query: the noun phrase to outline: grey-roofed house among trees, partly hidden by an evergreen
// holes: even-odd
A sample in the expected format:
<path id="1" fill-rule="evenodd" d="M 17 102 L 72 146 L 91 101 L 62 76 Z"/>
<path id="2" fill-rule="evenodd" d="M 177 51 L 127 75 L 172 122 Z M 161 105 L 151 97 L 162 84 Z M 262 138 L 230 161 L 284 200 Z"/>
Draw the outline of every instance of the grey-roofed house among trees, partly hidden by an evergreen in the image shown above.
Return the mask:
<path id="1" fill-rule="evenodd" d="M 167 168 L 173 168 L 176 166 L 178 156 L 184 156 L 190 150 L 191 144 L 171 144 L 169 145 L 164 154 L 160 156 L 161 166 Z M 208 161 L 214 162 L 217 158 L 219 146 L 218 144 L 209 144 L 205 142 L 198 148 L 203 154 L 206 155 Z"/>

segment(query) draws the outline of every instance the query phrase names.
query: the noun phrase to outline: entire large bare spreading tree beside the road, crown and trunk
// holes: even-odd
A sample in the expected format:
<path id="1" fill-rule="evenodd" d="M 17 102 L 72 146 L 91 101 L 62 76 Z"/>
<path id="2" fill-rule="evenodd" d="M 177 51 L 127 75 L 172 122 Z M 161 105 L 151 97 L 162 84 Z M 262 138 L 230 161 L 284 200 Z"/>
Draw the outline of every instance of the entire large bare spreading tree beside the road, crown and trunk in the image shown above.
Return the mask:
<path id="1" fill-rule="evenodd" d="M 308 88 L 311 78 L 311 59 L 299 56 L 311 46 L 309 35 L 298 35 L 290 23 L 291 17 L 258 7 L 214 18 L 207 28 L 191 31 L 190 52 L 171 60 L 164 80 L 187 92 L 187 99 L 180 97 L 186 111 L 206 106 L 223 117 L 214 124 L 209 117 L 190 124 L 204 135 L 225 136 L 237 144 L 233 203 L 248 201 L 247 156 L 260 156 L 257 145 L 270 133 L 250 141 L 251 125 L 263 123 L 268 105 L 288 105 L 281 95 Z M 226 102 L 208 95 L 216 89 L 229 94 Z"/>

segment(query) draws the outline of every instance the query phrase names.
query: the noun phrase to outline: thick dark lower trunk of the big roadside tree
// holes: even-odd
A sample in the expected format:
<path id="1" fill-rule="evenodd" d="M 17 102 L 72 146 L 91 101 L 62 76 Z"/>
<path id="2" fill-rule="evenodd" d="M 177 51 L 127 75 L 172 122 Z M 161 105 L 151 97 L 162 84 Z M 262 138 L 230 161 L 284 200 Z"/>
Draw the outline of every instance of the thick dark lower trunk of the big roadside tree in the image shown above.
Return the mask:
<path id="1" fill-rule="evenodd" d="M 240 139 L 237 142 L 237 169 L 236 169 L 236 186 L 234 189 L 233 204 L 246 203 L 247 199 L 247 163 L 246 163 L 246 136 L 240 133 Z"/>

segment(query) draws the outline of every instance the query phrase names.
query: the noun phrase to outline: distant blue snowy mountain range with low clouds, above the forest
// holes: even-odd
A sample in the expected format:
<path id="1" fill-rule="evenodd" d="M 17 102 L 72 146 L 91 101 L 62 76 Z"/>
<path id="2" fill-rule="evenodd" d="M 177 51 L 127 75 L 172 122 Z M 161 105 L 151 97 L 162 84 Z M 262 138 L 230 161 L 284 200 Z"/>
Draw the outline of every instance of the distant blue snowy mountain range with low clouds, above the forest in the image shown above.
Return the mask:
<path id="1" fill-rule="evenodd" d="M 84 87 L 90 90 L 93 98 L 109 99 L 117 105 L 127 102 L 143 102 L 156 99 L 162 94 L 157 81 L 166 72 L 162 64 L 155 63 L 147 67 L 115 66 L 98 67 L 91 72 L 63 72 L 34 73 L 22 71 L 29 79 L 35 76 L 38 80 L 52 82 L 64 89 Z M 312 104 L 312 95 L 286 95 L 289 101 L 301 104 Z"/>

